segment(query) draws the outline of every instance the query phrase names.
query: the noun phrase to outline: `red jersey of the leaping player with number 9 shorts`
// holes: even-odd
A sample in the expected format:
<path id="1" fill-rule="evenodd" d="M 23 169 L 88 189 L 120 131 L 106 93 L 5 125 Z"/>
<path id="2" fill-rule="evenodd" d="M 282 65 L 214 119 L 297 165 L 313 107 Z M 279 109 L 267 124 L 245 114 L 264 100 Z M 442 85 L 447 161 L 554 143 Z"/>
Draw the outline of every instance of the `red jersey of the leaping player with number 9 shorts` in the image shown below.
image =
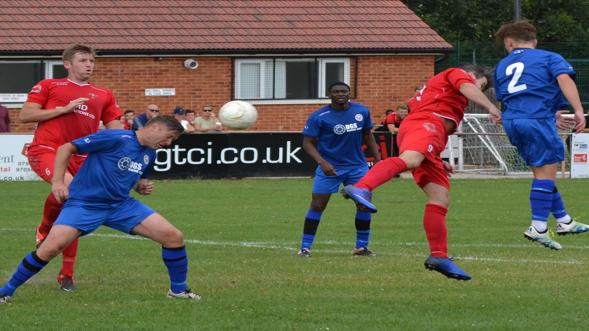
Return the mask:
<path id="1" fill-rule="evenodd" d="M 435 75 L 407 102 L 411 109 L 409 116 L 422 111 L 431 112 L 454 121 L 458 127 L 468 105 L 468 98 L 460 92 L 460 85 L 465 82 L 475 84 L 466 71 L 458 68 L 449 68 Z"/>

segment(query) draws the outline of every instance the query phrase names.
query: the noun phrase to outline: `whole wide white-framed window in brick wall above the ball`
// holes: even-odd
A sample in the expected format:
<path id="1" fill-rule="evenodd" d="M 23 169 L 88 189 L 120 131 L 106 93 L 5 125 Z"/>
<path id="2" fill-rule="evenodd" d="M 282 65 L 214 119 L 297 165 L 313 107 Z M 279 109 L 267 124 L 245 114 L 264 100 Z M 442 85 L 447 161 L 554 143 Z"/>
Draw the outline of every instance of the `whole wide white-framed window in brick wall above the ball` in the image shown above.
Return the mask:
<path id="1" fill-rule="evenodd" d="M 332 82 L 350 84 L 349 58 L 235 59 L 234 99 L 327 98 Z"/>

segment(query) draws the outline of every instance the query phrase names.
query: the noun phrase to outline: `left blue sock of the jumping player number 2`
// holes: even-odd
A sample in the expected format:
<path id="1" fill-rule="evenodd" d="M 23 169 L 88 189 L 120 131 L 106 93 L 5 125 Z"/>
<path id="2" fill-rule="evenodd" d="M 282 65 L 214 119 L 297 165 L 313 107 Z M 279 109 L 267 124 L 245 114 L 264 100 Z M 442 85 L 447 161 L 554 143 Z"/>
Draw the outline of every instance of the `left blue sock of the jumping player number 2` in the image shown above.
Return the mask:
<path id="1" fill-rule="evenodd" d="M 532 180 L 532 189 L 530 191 L 532 226 L 540 232 L 547 229 L 546 222 L 552 209 L 552 190 L 554 190 L 554 180 Z"/>

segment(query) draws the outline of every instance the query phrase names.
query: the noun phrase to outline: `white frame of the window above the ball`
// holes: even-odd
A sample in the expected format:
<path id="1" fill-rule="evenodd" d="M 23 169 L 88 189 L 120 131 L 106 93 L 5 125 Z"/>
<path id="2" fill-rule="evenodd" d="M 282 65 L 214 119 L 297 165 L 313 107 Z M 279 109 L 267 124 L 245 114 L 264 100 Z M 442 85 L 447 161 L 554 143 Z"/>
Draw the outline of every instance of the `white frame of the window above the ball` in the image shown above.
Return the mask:
<path id="1" fill-rule="evenodd" d="M 272 95 L 266 95 L 267 91 L 264 90 L 264 86 L 266 85 L 266 68 L 265 62 L 266 61 L 273 61 L 274 69 L 276 66 L 276 62 L 301 62 L 301 61 L 315 61 L 317 59 L 317 64 L 319 65 L 319 74 L 317 75 L 317 96 L 316 98 L 310 99 L 273 99 Z M 343 63 L 343 72 L 344 72 L 344 82 L 350 85 L 350 58 L 260 58 L 260 59 L 248 59 L 248 58 L 239 58 L 235 59 L 235 86 L 234 86 L 234 98 L 236 100 L 242 99 L 239 95 L 239 90 L 241 87 L 241 64 L 243 63 L 259 63 L 260 64 L 260 97 L 259 98 L 250 98 L 245 99 L 252 104 L 317 104 L 317 103 L 325 103 L 329 101 L 326 95 L 323 94 L 325 91 L 325 67 L 326 63 L 333 63 L 339 62 Z M 276 82 L 274 82 L 274 85 Z M 276 86 L 274 86 L 276 88 Z"/>

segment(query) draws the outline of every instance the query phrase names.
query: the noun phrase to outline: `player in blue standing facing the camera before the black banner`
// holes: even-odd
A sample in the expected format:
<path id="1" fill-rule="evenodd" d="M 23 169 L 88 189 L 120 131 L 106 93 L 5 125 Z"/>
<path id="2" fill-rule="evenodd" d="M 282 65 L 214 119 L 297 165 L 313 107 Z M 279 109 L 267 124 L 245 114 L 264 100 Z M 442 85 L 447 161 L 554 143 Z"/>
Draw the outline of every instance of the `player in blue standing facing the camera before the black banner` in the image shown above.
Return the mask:
<path id="1" fill-rule="evenodd" d="M 311 206 L 303 226 L 302 244 L 297 253 L 299 257 L 310 256 L 317 226 L 331 195 L 339 191 L 340 184 L 355 184 L 368 171 L 362 138 L 374 155 L 375 163 L 380 161 L 368 108 L 349 102 L 350 87 L 344 82 L 334 82 L 327 92 L 331 104 L 313 112 L 303 130 L 303 148 L 318 166 L 313 180 Z M 356 211 L 355 255 L 376 256 L 368 249 L 370 220 L 370 213 Z"/>

